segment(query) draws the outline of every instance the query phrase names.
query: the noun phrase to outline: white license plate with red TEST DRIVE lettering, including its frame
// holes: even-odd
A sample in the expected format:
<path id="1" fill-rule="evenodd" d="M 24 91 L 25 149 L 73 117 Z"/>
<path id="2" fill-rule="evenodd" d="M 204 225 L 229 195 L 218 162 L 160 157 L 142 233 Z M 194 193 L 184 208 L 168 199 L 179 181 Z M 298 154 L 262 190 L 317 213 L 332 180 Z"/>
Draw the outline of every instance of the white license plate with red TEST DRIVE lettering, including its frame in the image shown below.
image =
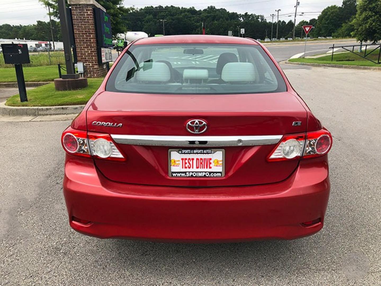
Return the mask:
<path id="1" fill-rule="evenodd" d="M 170 177 L 223 177 L 225 150 L 223 149 L 170 149 Z"/>

